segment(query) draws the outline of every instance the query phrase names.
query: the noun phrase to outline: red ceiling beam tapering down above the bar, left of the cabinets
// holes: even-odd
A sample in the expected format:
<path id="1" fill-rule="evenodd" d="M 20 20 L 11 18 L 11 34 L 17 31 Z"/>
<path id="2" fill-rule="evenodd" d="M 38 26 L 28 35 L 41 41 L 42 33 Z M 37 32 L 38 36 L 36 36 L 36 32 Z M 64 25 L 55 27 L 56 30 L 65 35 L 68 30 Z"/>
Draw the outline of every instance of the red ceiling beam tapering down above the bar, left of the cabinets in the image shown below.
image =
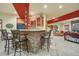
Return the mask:
<path id="1" fill-rule="evenodd" d="M 25 28 L 28 29 L 29 24 L 29 3 L 13 3 L 15 10 L 17 11 L 19 18 L 25 23 Z"/>

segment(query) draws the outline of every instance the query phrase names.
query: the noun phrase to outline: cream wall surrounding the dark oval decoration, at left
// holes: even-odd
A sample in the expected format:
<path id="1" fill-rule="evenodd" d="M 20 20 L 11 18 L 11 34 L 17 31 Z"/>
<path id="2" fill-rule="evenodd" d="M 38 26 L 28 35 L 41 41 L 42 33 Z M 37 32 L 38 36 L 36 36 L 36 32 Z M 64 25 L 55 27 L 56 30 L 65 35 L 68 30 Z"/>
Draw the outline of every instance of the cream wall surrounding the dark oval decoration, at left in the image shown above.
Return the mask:
<path id="1" fill-rule="evenodd" d="M 16 15 L 8 15 L 8 14 L 0 14 L 0 19 L 3 21 L 3 29 L 8 29 L 6 28 L 6 24 L 11 23 L 14 25 L 13 29 L 16 29 Z"/>

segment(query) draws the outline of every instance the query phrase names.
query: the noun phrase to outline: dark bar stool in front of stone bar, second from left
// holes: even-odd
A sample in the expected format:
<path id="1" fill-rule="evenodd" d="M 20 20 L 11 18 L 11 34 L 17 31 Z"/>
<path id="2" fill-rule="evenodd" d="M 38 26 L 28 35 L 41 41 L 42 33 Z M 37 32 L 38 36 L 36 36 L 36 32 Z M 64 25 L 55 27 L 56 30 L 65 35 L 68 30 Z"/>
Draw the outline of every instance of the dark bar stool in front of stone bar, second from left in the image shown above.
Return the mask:
<path id="1" fill-rule="evenodd" d="M 18 48 L 20 49 L 20 56 L 21 56 L 21 52 L 22 52 L 22 43 L 27 43 L 27 39 L 25 38 L 25 36 L 22 37 L 21 33 L 19 30 L 11 30 L 12 35 L 13 35 L 13 40 L 14 40 L 14 48 L 15 48 L 15 52 L 14 52 L 14 56 L 16 55 L 16 52 L 18 52 Z M 24 39 L 24 40 L 23 40 Z M 27 48 L 27 47 L 25 47 Z"/>

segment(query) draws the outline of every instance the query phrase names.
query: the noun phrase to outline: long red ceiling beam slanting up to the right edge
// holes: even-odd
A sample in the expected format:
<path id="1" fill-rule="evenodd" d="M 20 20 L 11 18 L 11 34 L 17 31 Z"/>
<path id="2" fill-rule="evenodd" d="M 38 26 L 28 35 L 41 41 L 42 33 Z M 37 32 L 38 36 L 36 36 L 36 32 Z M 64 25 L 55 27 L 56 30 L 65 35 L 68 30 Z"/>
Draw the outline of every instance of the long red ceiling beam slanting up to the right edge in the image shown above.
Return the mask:
<path id="1" fill-rule="evenodd" d="M 74 11 L 74 12 L 71 12 L 71 13 L 66 14 L 66 15 L 63 15 L 63 16 L 61 16 L 61 17 L 58 17 L 58 18 L 49 20 L 47 23 L 48 23 L 48 24 L 51 24 L 51 23 L 55 23 L 55 22 L 60 22 L 60 21 L 64 21 L 64 20 L 69 20 L 69 19 L 76 18 L 76 17 L 79 17 L 79 10 Z"/>

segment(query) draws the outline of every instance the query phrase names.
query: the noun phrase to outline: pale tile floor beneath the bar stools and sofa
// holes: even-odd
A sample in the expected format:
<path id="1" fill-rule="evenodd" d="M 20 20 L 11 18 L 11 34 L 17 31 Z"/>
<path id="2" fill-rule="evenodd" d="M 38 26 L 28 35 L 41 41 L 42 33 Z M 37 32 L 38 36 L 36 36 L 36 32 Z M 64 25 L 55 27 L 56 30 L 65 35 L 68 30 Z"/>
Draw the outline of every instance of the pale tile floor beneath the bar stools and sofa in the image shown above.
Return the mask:
<path id="1" fill-rule="evenodd" d="M 4 41 L 0 41 L 0 56 L 13 56 L 14 50 L 10 49 L 10 55 L 4 52 Z M 16 56 L 19 56 L 17 53 Z M 50 51 L 46 47 L 35 53 L 23 52 L 22 56 L 79 56 L 79 44 L 65 41 L 63 37 L 54 36 L 51 38 Z"/>

